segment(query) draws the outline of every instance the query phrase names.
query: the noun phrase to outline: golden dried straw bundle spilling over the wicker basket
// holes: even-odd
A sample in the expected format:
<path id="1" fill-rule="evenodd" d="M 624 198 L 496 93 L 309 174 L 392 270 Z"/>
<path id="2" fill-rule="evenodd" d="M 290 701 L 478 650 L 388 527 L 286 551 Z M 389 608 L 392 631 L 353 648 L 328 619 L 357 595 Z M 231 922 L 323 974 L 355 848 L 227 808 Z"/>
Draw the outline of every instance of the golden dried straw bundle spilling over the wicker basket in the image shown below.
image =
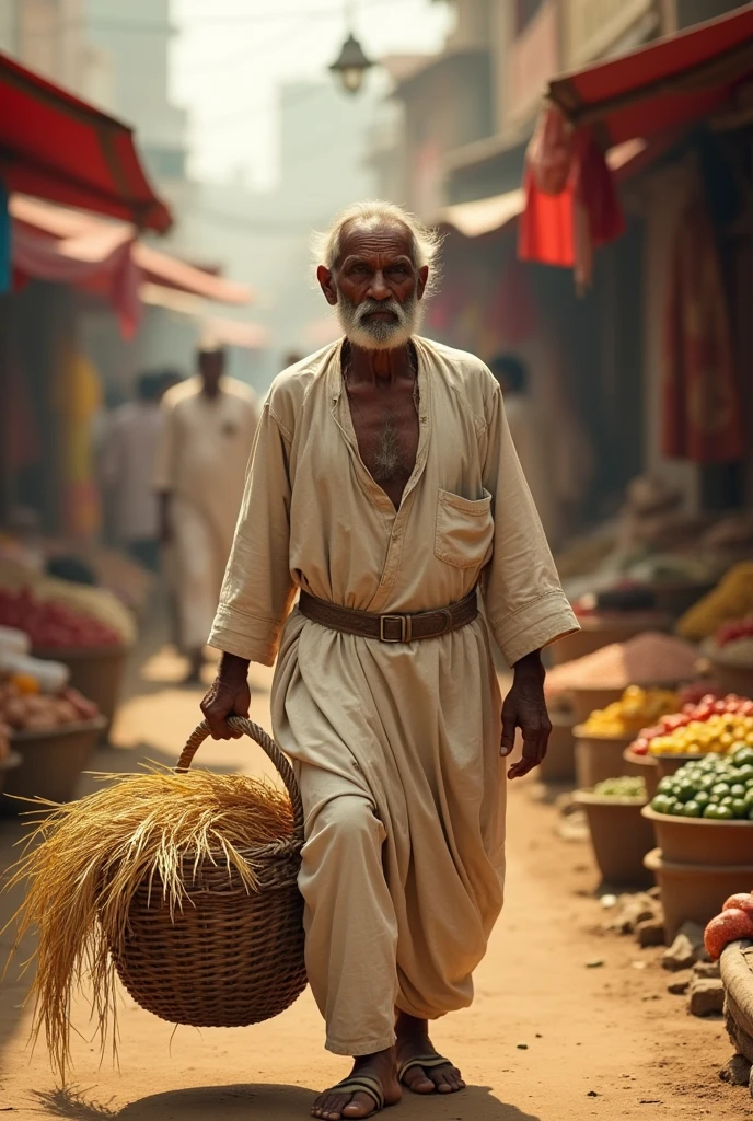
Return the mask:
<path id="1" fill-rule="evenodd" d="M 28 881 L 16 915 L 16 946 L 30 928 L 39 934 L 30 960 L 37 964 L 32 1039 L 44 1028 L 50 1062 L 65 1078 L 72 997 L 85 979 L 102 1050 L 110 1038 L 117 1056 L 110 947 L 123 946 L 139 884 L 147 881 L 150 895 L 161 895 L 171 916 L 186 900 L 193 906 L 186 884 L 204 861 L 226 868 L 229 879 L 240 877 L 247 892 L 255 892 L 253 851 L 290 837 L 294 819 L 287 795 L 271 784 L 201 769 L 118 775 L 78 802 L 39 805 L 52 812 L 32 823 L 9 887 Z"/>

